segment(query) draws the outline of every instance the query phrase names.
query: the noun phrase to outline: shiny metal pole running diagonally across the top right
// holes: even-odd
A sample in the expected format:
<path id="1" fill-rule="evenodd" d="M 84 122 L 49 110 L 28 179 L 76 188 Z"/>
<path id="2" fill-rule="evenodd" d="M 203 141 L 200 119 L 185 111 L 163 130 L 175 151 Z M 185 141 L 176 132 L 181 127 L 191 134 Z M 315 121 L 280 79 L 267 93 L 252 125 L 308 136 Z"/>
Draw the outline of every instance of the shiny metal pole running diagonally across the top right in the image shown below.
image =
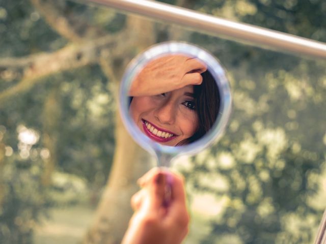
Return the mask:
<path id="1" fill-rule="evenodd" d="M 326 58 L 326 44 L 250 24 L 148 0 L 82 0 L 195 28 L 198 32 L 237 39 L 276 51 Z"/>

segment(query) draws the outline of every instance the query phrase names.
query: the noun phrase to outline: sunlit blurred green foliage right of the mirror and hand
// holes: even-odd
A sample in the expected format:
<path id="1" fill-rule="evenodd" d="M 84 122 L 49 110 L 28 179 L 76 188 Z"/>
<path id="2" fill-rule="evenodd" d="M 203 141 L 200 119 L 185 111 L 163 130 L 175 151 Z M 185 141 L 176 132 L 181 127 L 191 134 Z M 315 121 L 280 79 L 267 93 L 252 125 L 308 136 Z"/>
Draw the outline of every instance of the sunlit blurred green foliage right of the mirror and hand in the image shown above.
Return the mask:
<path id="1" fill-rule="evenodd" d="M 195 8 L 319 41 L 326 37 L 324 1 L 198 1 Z M 215 210 L 199 242 L 311 243 L 324 206 L 317 196 L 325 164 L 326 64 L 199 33 L 191 40 L 221 60 L 233 94 L 222 141 L 182 170 L 194 205 L 204 193 L 217 201 L 201 204 Z M 317 201 L 319 207 L 312 204 Z"/>

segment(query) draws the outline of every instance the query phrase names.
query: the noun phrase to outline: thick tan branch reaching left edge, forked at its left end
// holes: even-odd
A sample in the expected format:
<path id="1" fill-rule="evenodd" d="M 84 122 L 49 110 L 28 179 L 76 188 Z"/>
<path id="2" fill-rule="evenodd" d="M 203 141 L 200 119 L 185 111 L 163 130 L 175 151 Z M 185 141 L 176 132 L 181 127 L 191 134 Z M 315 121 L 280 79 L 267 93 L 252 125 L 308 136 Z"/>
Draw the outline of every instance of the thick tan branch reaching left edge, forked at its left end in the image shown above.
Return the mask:
<path id="1" fill-rule="evenodd" d="M 10 98 L 28 91 L 46 76 L 97 63 L 101 50 L 114 49 L 120 40 L 124 38 L 128 40 L 126 34 L 121 33 L 116 36 L 108 35 L 95 41 L 78 45 L 70 44 L 53 53 L 41 53 L 29 57 L 5 58 L 0 60 L 1 67 L 7 71 L 16 62 L 20 64 L 19 67 L 22 70 L 21 81 L 0 93 L 0 106 L 4 105 Z M 6 64 L 7 66 L 5 66 Z"/>

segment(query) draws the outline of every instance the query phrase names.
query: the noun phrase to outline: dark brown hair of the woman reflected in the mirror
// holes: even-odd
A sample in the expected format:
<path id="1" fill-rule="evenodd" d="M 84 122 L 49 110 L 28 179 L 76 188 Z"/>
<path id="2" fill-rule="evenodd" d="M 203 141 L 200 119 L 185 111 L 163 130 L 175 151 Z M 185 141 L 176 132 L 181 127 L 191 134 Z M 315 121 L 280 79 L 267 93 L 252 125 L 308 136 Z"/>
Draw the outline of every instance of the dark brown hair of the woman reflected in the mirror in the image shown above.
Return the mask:
<path id="1" fill-rule="evenodd" d="M 203 137 L 213 126 L 220 110 L 220 93 L 216 82 L 207 70 L 201 74 L 203 82 L 194 86 L 195 110 L 198 128 L 192 137 L 178 145 L 186 145 Z"/>

